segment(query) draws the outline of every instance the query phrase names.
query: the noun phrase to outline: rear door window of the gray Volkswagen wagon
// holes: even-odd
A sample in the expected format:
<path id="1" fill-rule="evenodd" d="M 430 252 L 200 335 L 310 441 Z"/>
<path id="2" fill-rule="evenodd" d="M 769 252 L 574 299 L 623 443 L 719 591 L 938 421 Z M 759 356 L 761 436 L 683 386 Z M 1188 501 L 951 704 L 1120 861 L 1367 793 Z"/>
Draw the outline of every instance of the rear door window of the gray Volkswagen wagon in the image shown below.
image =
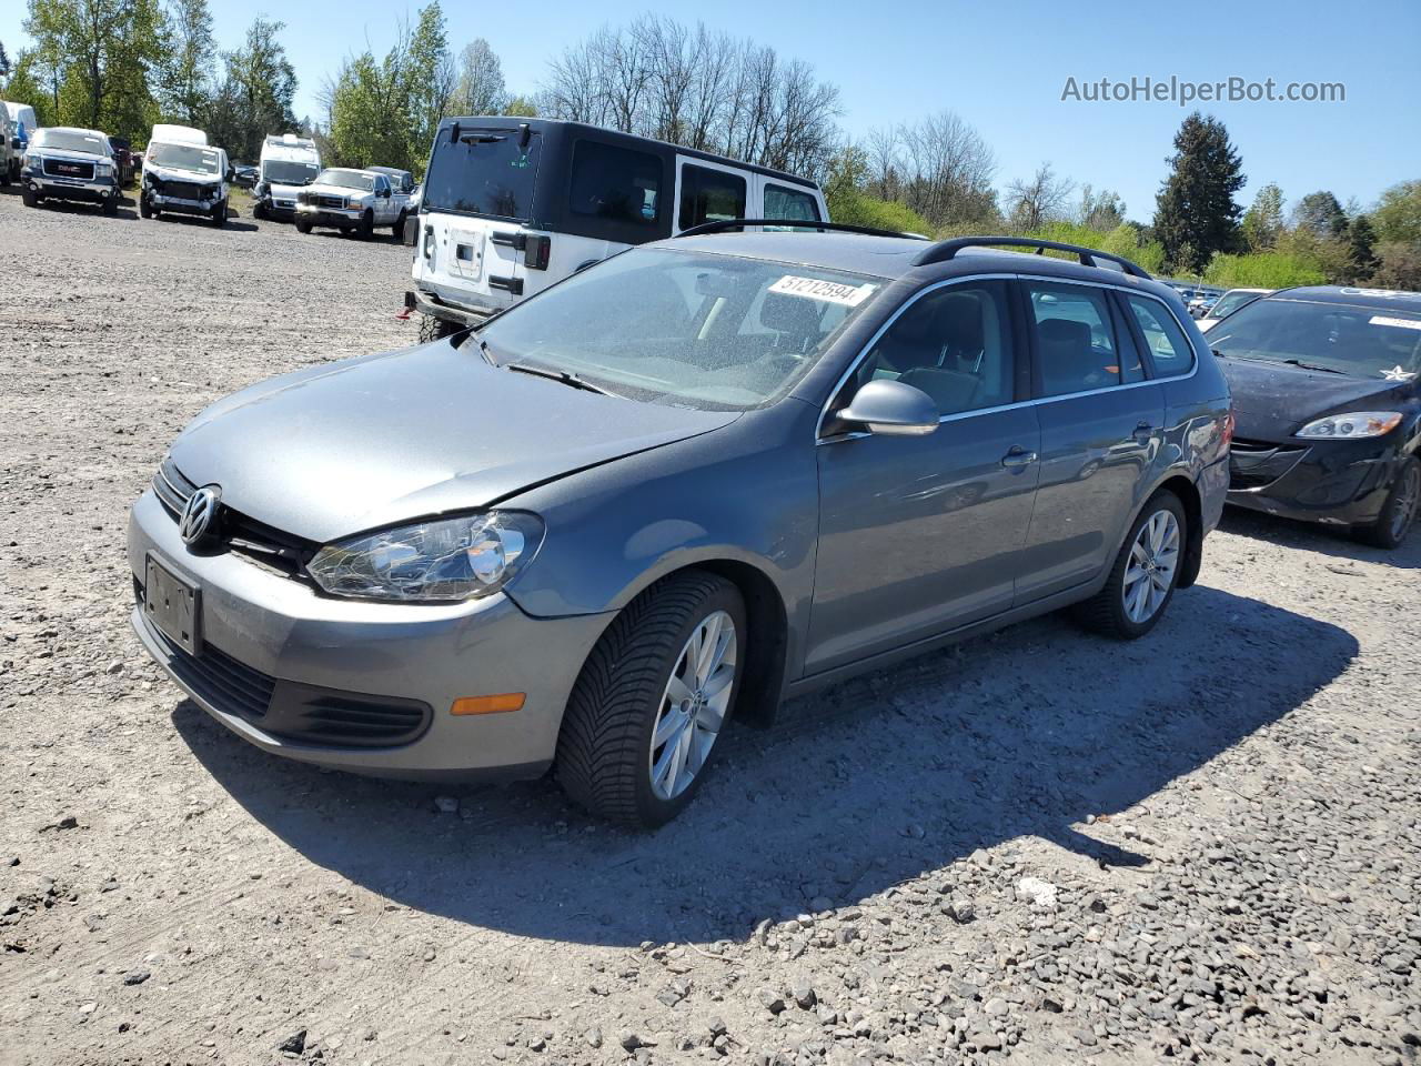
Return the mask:
<path id="1" fill-rule="evenodd" d="M 1121 382 L 1110 300 L 1103 290 L 1027 281 L 1026 294 L 1043 397 Z"/>

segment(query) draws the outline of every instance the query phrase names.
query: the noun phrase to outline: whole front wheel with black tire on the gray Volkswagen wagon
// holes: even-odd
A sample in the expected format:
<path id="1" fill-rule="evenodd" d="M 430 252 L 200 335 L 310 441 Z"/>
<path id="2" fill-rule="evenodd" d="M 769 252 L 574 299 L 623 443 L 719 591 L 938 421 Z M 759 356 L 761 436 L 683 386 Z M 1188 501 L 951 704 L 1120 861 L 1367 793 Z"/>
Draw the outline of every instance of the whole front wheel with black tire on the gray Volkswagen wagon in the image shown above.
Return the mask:
<path id="1" fill-rule="evenodd" d="M 696 681 L 695 695 L 688 692 L 678 706 L 671 702 L 674 675 L 691 675 L 692 640 L 712 634 L 725 658 L 706 674 L 719 687 L 710 702 L 702 702 L 710 687 Z M 654 829 L 674 819 L 715 765 L 715 742 L 735 712 L 749 635 L 739 590 L 715 574 L 688 570 L 637 597 L 603 634 L 573 688 L 557 738 L 563 790 L 610 822 Z M 696 709 L 686 709 L 692 701 Z M 688 723 L 685 729 L 675 729 L 678 719 Z M 658 726 L 674 731 L 661 746 L 654 742 Z M 681 752 L 689 756 L 678 760 Z M 679 775 L 654 783 L 661 768 L 682 763 Z"/>

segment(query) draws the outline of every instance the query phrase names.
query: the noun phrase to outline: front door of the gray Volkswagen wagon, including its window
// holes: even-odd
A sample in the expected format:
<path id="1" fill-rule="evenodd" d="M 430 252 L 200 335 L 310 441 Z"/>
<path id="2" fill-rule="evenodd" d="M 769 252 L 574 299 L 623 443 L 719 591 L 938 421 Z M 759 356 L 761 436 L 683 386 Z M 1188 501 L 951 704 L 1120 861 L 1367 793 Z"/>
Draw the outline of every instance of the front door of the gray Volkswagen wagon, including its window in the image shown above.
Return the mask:
<path id="1" fill-rule="evenodd" d="M 1007 283 L 919 293 L 830 401 L 817 446 L 820 537 L 806 672 L 853 662 L 1012 605 L 1036 493 L 1036 411 Z M 833 418 L 874 379 L 938 405 L 924 436 Z M 847 432 L 845 432 L 847 429 Z"/>

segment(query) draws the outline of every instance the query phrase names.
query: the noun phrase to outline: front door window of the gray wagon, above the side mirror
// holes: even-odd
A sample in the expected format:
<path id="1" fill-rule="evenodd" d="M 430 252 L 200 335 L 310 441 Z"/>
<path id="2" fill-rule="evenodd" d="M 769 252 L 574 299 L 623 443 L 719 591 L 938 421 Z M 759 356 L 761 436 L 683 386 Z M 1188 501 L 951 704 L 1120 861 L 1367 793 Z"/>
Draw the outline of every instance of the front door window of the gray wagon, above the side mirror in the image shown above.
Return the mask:
<path id="1" fill-rule="evenodd" d="M 942 415 L 1010 404 L 1016 360 L 1007 323 L 1000 281 L 935 289 L 909 304 L 874 343 L 854 388 L 884 378 L 901 381 L 932 397 Z"/>

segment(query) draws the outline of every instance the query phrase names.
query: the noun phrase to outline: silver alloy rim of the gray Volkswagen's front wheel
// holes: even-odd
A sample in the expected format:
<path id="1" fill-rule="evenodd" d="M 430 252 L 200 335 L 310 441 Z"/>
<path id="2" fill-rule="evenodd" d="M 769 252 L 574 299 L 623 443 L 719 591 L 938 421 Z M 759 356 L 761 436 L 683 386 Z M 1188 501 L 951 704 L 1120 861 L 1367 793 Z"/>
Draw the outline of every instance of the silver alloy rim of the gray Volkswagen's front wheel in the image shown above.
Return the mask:
<path id="1" fill-rule="evenodd" d="M 651 790 L 672 800 L 691 787 L 720 736 L 735 687 L 737 640 L 726 611 L 691 631 L 666 681 L 651 731 Z"/>

